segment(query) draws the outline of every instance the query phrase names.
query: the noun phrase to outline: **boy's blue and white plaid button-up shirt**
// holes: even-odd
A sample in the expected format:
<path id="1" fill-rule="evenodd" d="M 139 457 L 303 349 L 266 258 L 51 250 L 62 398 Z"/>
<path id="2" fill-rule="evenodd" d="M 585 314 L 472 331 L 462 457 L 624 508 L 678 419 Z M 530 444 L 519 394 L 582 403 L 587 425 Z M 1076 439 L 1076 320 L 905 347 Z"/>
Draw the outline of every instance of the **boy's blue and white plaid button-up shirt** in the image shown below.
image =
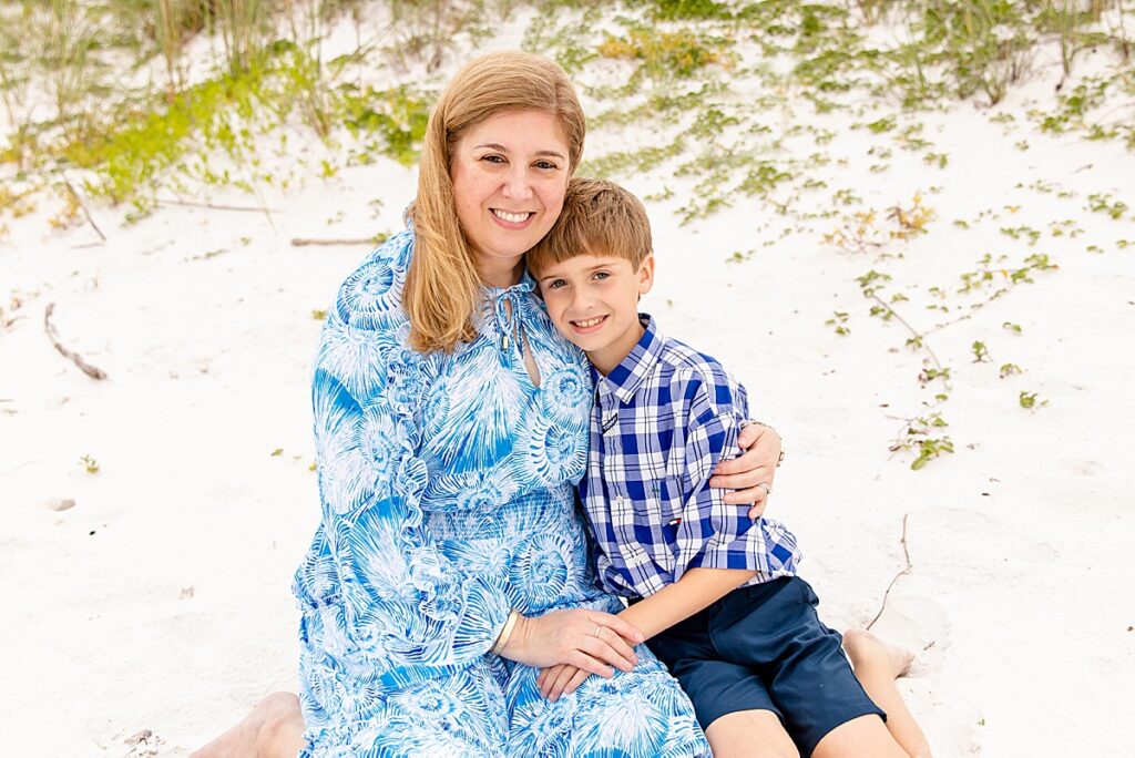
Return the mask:
<path id="1" fill-rule="evenodd" d="M 747 568 L 749 584 L 796 574 L 796 537 L 770 519 L 748 517 L 711 488 L 718 461 L 737 453 L 748 416 L 745 388 L 722 365 L 646 332 L 606 377 L 592 369 L 591 450 L 580 485 L 596 539 L 598 583 L 648 597 L 689 568 Z"/>

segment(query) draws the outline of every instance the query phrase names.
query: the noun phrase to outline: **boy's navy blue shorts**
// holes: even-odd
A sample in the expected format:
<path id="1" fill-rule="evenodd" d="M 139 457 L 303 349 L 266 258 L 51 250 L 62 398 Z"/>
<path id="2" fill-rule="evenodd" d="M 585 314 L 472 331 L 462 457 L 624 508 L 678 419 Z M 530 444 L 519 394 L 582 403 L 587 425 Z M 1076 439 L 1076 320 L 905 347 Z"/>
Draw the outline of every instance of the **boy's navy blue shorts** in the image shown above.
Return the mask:
<path id="1" fill-rule="evenodd" d="M 851 671 L 842 638 L 816 615 L 798 576 L 733 590 L 647 642 L 708 728 L 726 714 L 771 710 L 801 755 L 840 724 L 880 710 Z"/>

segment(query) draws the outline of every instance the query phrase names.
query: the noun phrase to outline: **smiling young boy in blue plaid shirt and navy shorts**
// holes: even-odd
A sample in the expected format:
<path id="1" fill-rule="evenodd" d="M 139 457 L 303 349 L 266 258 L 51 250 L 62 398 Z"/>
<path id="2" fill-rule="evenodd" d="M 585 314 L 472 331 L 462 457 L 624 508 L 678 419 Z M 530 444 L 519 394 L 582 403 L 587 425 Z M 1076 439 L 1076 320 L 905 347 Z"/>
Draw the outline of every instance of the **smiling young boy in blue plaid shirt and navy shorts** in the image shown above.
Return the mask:
<path id="1" fill-rule="evenodd" d="M 796 575 L 796 538 L 709 488 L 737 447 L 746 394 L 638 312 L 655 266 L 641 203 L 608 182 L 572 180 L 528 266 L 556 328 L 594 369 L 580 495 L 598 581 L 629 599 L 623 617 L 690 696 L 714 755 L 928 756 L 894 687 L 909 655 L 849 633 L 852 672 Z M 586 677 L 557 666 L 539 685 L 557 698 Z"/>

